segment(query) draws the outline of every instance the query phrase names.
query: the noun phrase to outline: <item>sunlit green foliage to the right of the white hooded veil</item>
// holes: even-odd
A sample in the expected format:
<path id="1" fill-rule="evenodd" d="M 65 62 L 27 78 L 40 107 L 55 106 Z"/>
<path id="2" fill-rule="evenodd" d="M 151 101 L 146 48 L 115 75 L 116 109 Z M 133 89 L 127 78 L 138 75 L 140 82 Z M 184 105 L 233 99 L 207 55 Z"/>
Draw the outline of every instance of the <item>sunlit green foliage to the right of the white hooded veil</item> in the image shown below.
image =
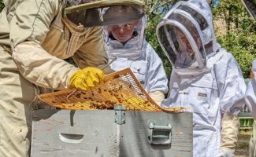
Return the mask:
<path id="1" fill-rule="evenodd" d="M 216 29 L 217 41 L 234 55 L 243 77 L 248 78 L 251 63 L 256 57 L 256 21 L 240 0 L 222 0 L 213 9 L 213 16 L 214 21 L 223 20 L 225 23 L 224 30 Z M 217 24 L 215 26 L 218 27 Z"/>

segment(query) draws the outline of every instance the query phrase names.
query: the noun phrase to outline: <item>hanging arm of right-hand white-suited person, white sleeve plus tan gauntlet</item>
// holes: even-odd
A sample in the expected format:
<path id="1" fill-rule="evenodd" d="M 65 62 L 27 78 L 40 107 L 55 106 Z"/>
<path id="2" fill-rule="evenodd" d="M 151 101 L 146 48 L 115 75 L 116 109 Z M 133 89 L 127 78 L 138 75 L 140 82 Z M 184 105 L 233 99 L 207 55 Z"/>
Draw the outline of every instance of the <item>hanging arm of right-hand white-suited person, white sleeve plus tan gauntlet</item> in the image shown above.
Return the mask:
<path id="1" fill-rule="evenodd" d="M 219 156 L 233 156 L 235 152 L 237 137 L 239 134 L 238 113 L 243 108 L 244 93 L 246 85 L 239 64 L 230 53 L 226 56 L 226 71 L 218 71 L 219 79 L 220 108 L 223 115 L 221 119 L 221 149 Z M 221 66 L 221 64 L 219 64 Z M 221 74 L 222 73 L 222 74 Z"/>

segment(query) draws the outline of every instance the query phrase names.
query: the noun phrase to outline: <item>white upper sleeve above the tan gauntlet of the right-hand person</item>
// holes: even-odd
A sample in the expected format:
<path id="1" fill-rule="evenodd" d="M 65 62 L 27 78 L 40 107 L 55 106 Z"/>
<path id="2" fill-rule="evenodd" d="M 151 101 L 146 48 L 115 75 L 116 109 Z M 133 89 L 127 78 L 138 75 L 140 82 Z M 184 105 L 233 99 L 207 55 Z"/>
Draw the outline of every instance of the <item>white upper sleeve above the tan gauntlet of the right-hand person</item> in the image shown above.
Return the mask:
<path id="1" fill-rule="evenodd" d="M 221 62 L 219 68 L 215 69 L 217 75 L 224 76 L 219 77 L 221 78 L 221 84 L 219 84 L 221 113 L 238 115 L 245 105 L 244 94 L 247 87 L 236 59 L 231 53 L 225 57 L 228 57 L 228 64 L 224 65 Z"/>

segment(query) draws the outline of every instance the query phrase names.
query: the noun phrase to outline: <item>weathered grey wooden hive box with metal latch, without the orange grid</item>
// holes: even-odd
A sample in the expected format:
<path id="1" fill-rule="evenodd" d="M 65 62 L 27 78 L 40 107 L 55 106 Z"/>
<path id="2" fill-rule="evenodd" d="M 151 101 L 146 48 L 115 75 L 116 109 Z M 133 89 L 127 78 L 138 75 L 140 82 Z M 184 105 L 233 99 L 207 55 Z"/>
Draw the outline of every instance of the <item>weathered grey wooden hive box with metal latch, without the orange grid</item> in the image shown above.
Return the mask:
<path id="1" fill-rule="evenodd" d="M 32 157 L 190 157 L 192 114 L 37 110 Z"/>

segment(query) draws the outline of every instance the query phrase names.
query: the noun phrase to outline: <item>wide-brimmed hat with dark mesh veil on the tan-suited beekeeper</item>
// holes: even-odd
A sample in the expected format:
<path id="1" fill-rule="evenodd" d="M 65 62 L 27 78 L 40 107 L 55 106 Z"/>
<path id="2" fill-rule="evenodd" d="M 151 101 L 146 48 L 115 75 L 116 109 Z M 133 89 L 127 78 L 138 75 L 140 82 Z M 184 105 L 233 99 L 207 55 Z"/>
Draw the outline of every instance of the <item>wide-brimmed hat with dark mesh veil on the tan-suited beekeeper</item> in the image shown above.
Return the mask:
<path id="1" fill-rule="evenodd" d="M 142 8 L 141 0 L 67 0 L 64 16 L 76 25 L 103 26 L 139 20 Z"/>

